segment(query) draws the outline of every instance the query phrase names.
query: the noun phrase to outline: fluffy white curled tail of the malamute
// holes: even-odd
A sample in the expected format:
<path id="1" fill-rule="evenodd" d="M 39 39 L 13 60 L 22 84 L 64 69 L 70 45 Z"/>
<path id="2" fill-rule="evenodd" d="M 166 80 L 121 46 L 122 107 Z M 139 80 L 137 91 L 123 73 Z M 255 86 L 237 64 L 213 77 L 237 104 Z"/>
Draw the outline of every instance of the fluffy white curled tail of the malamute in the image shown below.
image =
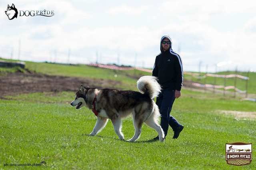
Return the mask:
<path id="1" fill-rule="evenodd" d="M 148 94 L 150 99 L 157 97 L 161 91 L 161 86 L 157 82 L 157 78 L 154 76 L 142 76 L 137 81 L 137 88 L 140 93 Z"/>

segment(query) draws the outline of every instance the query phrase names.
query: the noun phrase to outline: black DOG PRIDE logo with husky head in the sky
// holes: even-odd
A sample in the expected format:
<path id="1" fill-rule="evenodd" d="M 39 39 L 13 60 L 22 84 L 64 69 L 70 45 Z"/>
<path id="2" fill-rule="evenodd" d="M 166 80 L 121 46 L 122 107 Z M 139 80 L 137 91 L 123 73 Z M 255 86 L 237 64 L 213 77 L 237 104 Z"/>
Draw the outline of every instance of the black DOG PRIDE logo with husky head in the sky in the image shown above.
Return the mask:
<path id="1" fill-rule="evenodd" d="M 5 14 L 7 15 L 9 20 L 12 20 L 14 18 L 17 18 L 18 10 L 17 8 L 15 8 L 14 4 L 12 4 L 12 6 L 9 6 L 8 4 Z M 50 16 L 54 16 L 54 11 L 53 10 L 52 11 L 49 11 L 49 10 L 31 10 L 31 11 L 20 10 L 19 11 L 19 16 L 38 16 L 38 15 L 50 17 Z"/>

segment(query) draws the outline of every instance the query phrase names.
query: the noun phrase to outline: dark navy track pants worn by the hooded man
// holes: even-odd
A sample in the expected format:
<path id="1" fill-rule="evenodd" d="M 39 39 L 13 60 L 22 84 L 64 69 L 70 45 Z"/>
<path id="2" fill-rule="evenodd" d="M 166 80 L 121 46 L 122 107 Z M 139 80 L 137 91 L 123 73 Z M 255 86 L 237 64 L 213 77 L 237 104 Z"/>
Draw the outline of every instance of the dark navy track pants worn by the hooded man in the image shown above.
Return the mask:
<path id="1" fill-rule="evenodd" d="M 180 123 L 170 115 L 175 100 L 174 92 L 175 90 L 163 90 L 156 98 L 156 105 L 158 105 L 162 116 L 160 125 L 164 130 L 165 136 L 167 135 L 169 125 L 172 130 L 176 130 L 180 126 Z"/>

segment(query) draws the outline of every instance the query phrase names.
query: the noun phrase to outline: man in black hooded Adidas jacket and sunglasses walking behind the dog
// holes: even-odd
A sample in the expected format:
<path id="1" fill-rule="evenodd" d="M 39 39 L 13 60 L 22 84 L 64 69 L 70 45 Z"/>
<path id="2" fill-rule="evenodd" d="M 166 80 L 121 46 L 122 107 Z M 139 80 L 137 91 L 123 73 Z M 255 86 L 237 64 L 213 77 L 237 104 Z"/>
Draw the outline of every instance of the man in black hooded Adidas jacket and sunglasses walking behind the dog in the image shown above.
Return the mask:
<path id="1" fill-rule="evenodd" d="M 175 99 L 180 97 L 180 90 L 183 81 L 182 60 L 180 55 L 172 50 L 172 40 L 169 36 L 162 36 L 160 41 L 161 53 L 156 56 L 152 76 L 158 78 L 162 91 L 156 98 L 161 114 L 161 127 L 166 137 L 168 127 L 174 131 L 173 138 L 178 138 L 184 126 L 170 115 Z M 158 139 L 157 136 L 154 139 Z"/>

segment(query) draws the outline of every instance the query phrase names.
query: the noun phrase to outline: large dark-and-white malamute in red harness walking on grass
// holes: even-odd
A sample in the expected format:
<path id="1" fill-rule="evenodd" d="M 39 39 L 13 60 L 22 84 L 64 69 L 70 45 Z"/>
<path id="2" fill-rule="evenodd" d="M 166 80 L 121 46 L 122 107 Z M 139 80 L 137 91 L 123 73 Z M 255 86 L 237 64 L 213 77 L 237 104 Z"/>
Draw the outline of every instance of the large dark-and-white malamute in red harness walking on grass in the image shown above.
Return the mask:
<path id="1" fill-rule="evenodd" d="M 158 132 L 159 140 L 164 140 L 164 132 L 158 124 L 159 109 L 154 102 L 161 90 L 156 77 L 143 76 L 137 81 L 137 91 L 121 91 L 116 89 L 96 89 L 84 87 L 75 95 L 75 100 L 70 104 L 80 109 L 83 106 L 92 109 L 97 116 L 96 125 L 90 136 L 98 134 L 107 124 L 108 119 L 113 123 L 114 130 L 120 140 L 124 140 L 122 133 L 122 118 L 132 114 L 135 128 L 134 136 L 127 140 L 134 142 L 140 137 L 141 127 L 146 123 Z"/>

